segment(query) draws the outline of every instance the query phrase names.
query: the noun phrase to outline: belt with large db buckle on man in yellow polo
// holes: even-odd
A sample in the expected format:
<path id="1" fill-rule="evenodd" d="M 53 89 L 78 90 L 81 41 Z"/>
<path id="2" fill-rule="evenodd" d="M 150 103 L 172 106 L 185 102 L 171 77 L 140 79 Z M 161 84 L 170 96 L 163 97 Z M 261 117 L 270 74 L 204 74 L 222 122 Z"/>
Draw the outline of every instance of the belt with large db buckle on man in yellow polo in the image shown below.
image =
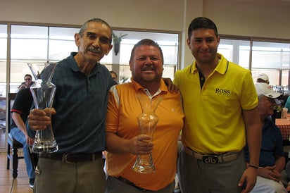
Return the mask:
<path id="1" fill-rule="evenodd" d="M 192 156 L 198 160 L 203 161 L 203 163 L 225 163 L 229 161 L 234 161 L 238 158 L 239 152 L 228 152 L 225 154 L 198 154 L 195 151 L 192 151 L 189 149 L 189 147 L 184 147 L 184 152 L 188 154 L 189 156 Z"/>

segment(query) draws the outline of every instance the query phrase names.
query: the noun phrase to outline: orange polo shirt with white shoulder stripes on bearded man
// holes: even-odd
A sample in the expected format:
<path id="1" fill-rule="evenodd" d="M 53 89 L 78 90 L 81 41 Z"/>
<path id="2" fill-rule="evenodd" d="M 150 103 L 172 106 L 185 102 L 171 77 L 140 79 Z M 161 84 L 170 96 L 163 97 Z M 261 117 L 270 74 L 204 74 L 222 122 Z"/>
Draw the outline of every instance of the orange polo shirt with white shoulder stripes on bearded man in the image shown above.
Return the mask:
<path id="1" fill-rule="evenodd" d="M 137 116 L 142 112 L 137 93 L 143 94 L 144 87 L 137 82 L 115 85 L 108 97 L 106 132 L 131 139 L 139 135 Z M 132 170 L 137 156 L 133 154 L 110 154 L 106 158 L 108 175 L 121 176 L 138 187 L 150 190 L 163 189 L 173 182 L 177 166 L 177 139 L 183 127 L 184 113 L 179 93 L 170 93 L 161 81 L 160 101 L 156 109 L 159 120 L 153 134 L 153 163 L 155 173 L 141 174 Z"/>

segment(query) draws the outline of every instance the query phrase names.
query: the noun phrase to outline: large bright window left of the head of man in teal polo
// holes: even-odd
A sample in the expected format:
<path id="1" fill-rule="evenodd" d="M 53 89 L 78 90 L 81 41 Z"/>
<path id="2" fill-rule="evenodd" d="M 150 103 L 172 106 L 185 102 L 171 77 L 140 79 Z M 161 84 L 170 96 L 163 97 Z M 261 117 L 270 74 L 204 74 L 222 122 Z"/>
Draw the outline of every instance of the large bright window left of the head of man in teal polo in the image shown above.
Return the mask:
<path id="1" fill-rule="evenodd" d="M 32 74 L 27 63 L 60 61 L 77 51 L 77 28 L 11 25 L 11 92 L 16 92 L 25 74 Z"/>

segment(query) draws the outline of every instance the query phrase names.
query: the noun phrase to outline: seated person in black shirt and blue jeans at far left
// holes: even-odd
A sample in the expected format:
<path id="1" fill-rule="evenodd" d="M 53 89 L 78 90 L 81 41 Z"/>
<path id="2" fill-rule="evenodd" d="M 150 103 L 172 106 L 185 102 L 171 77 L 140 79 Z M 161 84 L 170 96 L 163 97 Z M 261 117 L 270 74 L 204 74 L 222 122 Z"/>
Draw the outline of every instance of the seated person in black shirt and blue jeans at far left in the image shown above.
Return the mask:
<path id="1" fill-rule="evenodd" d="M 30 107 L 32 105 L 32 94 L 29 88 L 21 89 L 15 97 L 12 112 L 11 131 L 9 135 L 23 144 L 23 156 L 25 159 L 26 170 L 28 177 L 30 178 L 30 187 L 34 185 L 34 168 L 30 158 L 30 145 L 33 144 L 33 139 L 27 135 L 25 122 L 27 116 L 30 113 Z"/>

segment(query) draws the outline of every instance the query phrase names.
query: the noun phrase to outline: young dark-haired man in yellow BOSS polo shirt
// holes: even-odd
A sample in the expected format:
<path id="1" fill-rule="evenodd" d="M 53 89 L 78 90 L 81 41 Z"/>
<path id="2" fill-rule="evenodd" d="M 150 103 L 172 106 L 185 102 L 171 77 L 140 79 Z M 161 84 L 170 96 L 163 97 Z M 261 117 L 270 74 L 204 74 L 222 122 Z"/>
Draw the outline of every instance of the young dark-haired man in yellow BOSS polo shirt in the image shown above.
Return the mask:
<path id="1" fill-rule="evenodd" d="M 187 45 L 196 61 L 175 73 L 182 93 L 184 129 L 179 156 L 182 192 L 249 192 L 256 183 L 261 123 L 249 70 L 217 54 L 220 37 L 208 18 L 195 18 Z M 246 140 L 250 166 L 246 168 Z"/>

